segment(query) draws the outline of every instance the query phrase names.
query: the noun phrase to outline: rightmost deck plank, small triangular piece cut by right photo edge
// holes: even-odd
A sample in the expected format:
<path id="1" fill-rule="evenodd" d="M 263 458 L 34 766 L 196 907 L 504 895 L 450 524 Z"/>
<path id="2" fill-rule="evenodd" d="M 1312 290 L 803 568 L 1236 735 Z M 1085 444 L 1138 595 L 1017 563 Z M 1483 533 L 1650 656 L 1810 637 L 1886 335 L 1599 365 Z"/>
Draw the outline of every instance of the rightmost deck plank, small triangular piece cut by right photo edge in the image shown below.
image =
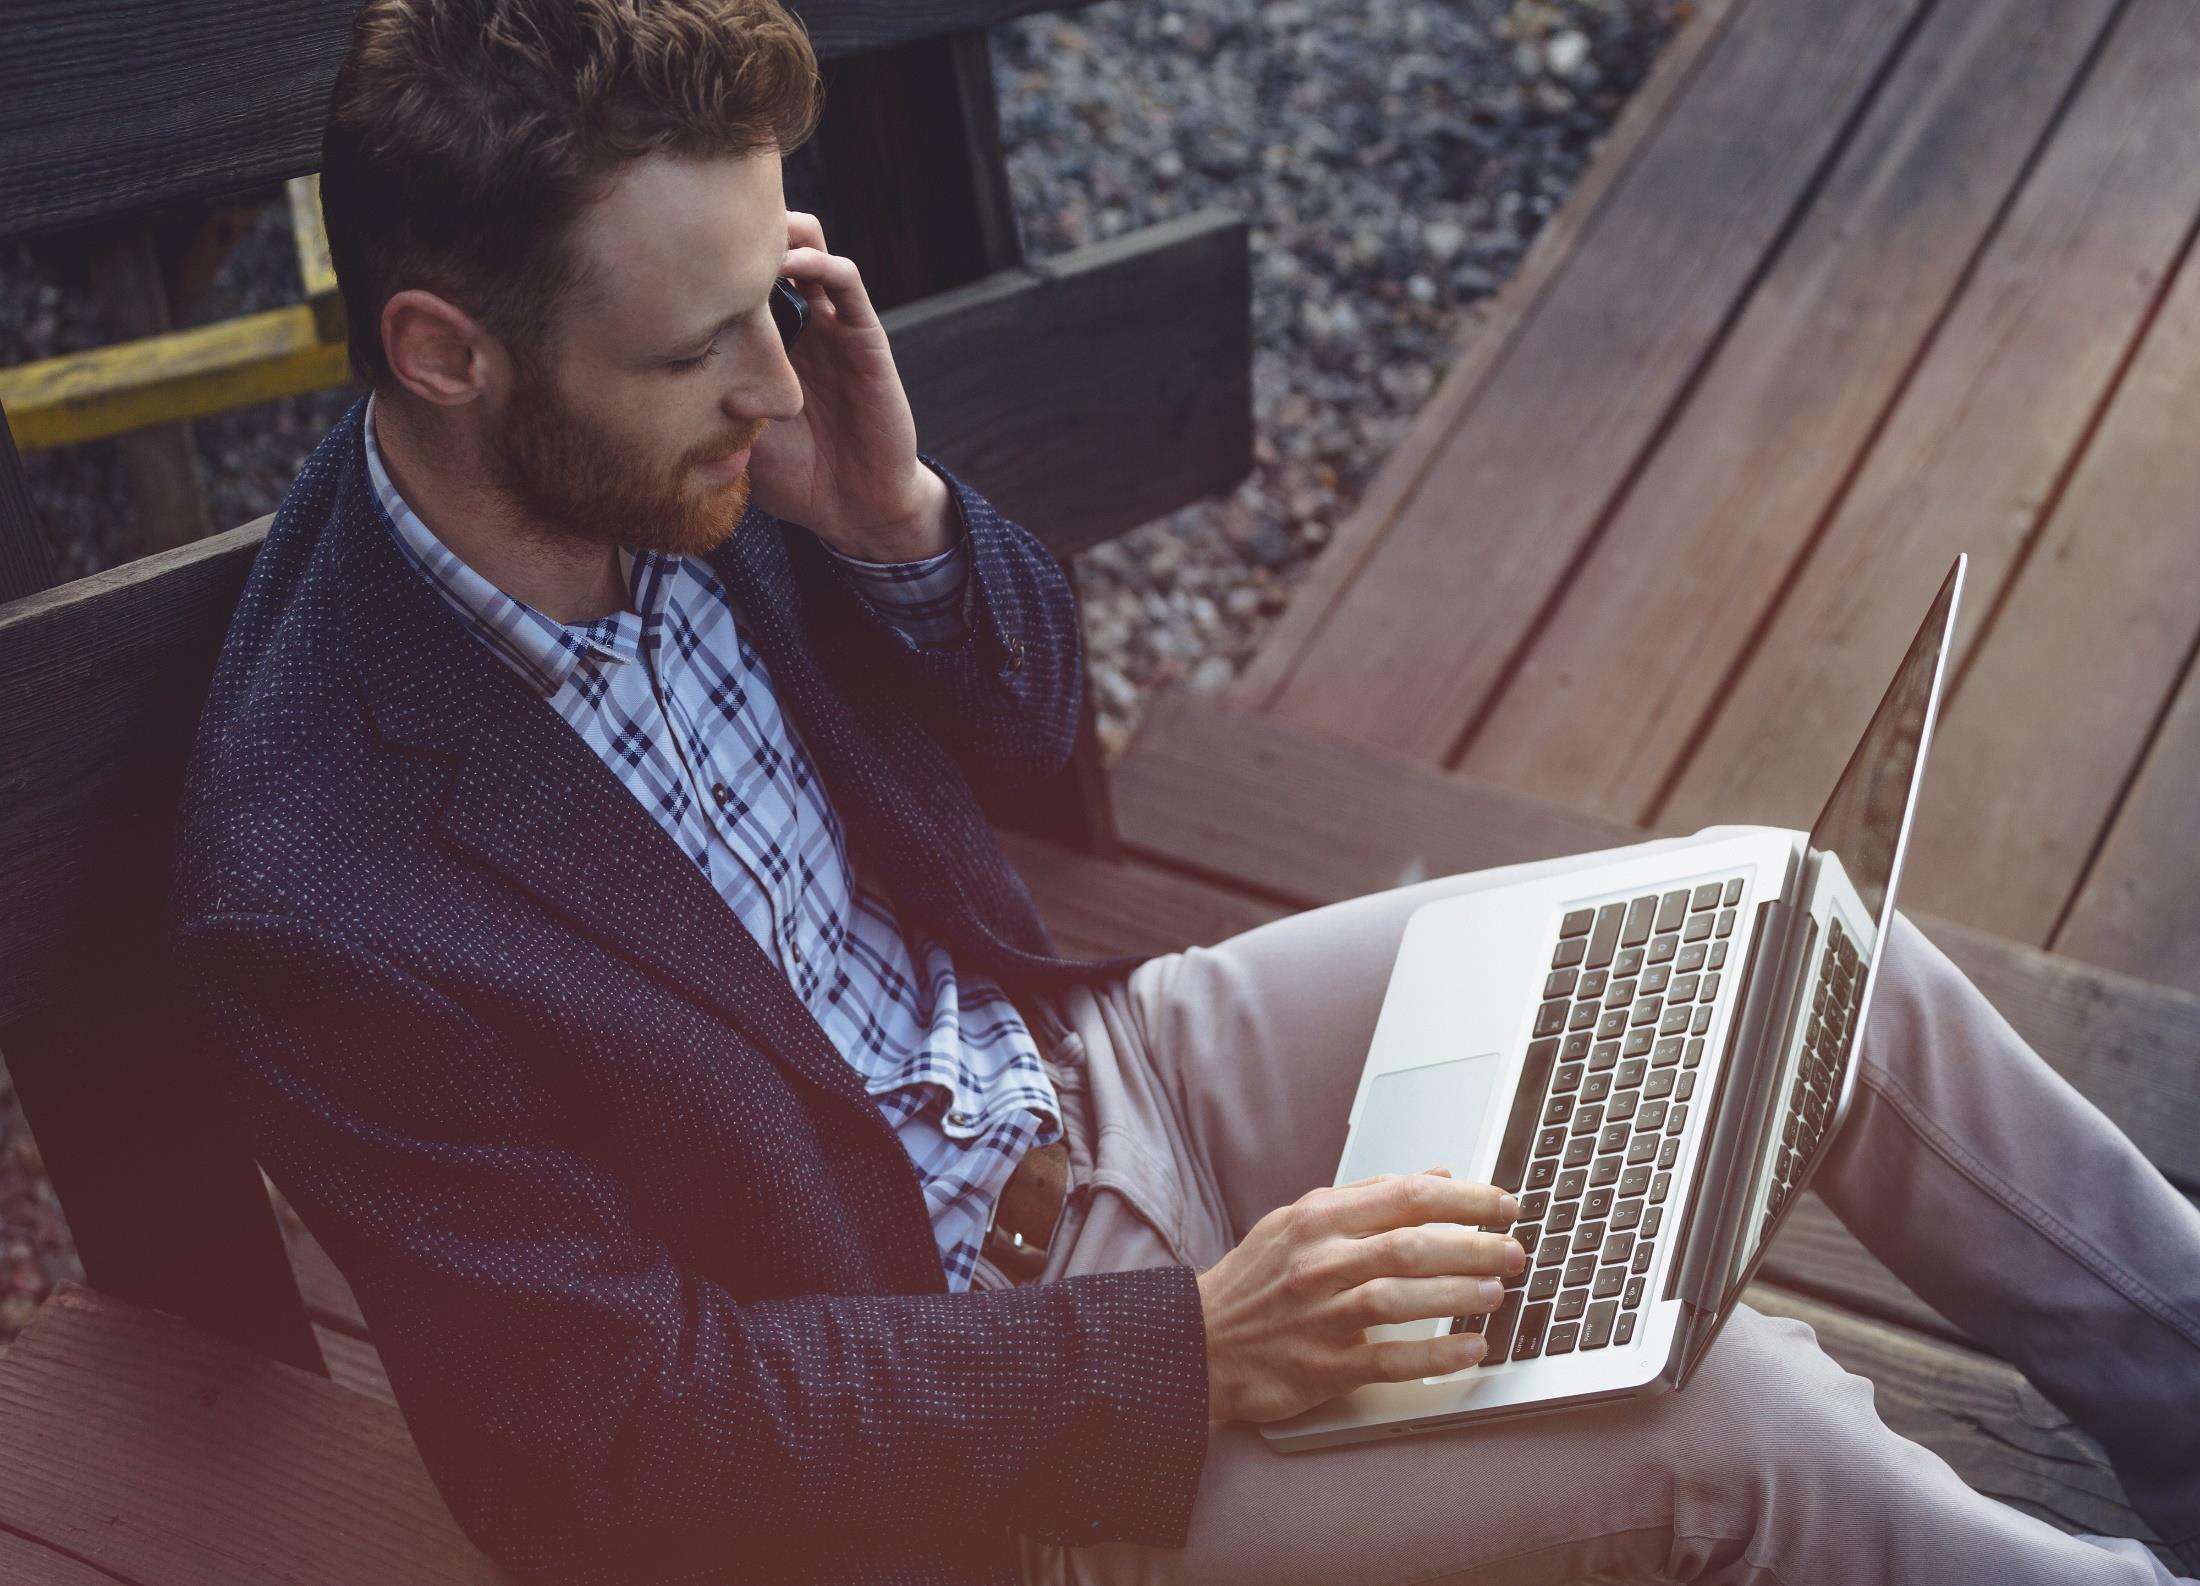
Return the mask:
<path id="1" fill-rule="evenodd" d="M 2055 950 L 2200 992 L 2200 660 L 2163 719 Z"/>

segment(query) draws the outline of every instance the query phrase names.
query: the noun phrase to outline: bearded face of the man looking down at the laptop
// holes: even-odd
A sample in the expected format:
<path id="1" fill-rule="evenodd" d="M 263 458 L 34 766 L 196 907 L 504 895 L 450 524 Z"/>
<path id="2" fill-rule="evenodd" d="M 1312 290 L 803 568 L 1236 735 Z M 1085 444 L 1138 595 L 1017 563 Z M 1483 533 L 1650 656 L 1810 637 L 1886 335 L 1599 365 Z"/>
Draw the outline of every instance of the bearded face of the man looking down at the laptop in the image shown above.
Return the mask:
<path id="1" fill-rule="evenodd" d="M 543 367 L 515 365 L 488 433 L 497 484 L 565 539 L 706 552 L 741 521 L 748 471 L 702 464 L 801 411 L 768 299 L 788 251 L 779 156 L 638 161 L 574 246 L 598 286 L 561 310 Z"/>

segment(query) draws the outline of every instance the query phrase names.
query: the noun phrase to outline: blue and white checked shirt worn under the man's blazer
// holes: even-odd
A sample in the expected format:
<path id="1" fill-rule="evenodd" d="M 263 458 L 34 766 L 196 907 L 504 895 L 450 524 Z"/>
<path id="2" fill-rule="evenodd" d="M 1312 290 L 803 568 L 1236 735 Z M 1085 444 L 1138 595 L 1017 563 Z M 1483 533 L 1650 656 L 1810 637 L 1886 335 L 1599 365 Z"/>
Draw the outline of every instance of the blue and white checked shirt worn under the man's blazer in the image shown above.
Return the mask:
<path id="1" fill-rule="evenodd" d="M 697 557 L 620 546 L 634 609 L 559 623 L 451 554 L 405 504 L 374 442 L 372 396 L 365 440 L 405 559 L 695 860 L 862 1076 L 924 1181 L 948 1287 L 968 1289 L 1001 1186 L 1027 1148 L 1063 1133 L 1054 1084 L 1001 988 L 957 974 L 946 948 L 904 933 L 856 878 L 825 783 L 717 574 Z M 924 561 L 834 557 L 913 645 L 961 640 L 964 539 Z"/>

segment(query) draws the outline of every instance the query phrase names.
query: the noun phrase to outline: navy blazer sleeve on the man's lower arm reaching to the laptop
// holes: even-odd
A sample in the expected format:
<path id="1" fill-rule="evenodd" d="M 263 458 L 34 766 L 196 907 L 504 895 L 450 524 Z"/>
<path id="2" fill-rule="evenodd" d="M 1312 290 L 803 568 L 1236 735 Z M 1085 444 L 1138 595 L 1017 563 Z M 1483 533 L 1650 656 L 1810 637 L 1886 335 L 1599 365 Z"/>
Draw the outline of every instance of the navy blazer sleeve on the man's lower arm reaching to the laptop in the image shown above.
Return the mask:
<path id="1" fill-rule="evenodd" d="M 761 1566 L 821 1535 L 972 1527 L 1181 1544 L 1208 1436 L 1188 1267 L 744 1304 L 420 977 L 266 915 L 200 917 L 174 948 L 194 1038 L 502 1566 Z M 400 1043 L 433 1056 L 403 1084 Z"/>

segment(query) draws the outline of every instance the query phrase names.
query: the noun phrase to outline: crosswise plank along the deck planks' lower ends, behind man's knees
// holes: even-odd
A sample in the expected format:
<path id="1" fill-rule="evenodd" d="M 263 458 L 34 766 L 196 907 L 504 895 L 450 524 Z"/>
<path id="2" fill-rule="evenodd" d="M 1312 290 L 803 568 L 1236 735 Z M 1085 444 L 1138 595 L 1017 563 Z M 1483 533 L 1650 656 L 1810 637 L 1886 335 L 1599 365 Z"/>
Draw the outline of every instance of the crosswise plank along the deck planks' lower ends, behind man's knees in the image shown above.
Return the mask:
<path id="1" fill-rule="evenodd" d="M 1294 908 L 1650 836 L 1181 691 L 1115 763 L 1115 803 L 1133 853 Z M 2174 1183 L 2200 1190 L 2200 996 L 1918 924 Z"/>

